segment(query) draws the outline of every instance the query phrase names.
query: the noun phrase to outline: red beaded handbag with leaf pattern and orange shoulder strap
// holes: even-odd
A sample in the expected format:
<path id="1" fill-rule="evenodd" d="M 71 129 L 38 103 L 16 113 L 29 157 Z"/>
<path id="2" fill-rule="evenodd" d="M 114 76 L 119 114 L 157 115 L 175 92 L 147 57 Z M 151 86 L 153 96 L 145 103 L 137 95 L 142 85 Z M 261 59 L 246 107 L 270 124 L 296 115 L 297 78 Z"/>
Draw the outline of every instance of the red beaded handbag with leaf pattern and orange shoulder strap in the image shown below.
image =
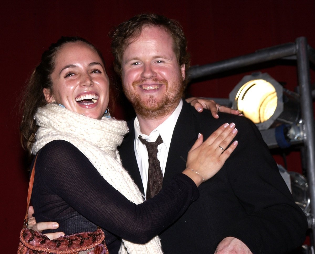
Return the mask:
<path id="1" fill-rule="evenodd" d="M 28 186 L 26 215 L 17 254 L 108 254 L 105 235 L 99 227 L 94 232 L 64 235 L 54 240 L 50 240 L 38 231 L 27 229 L 27 212 L 31 200 L 36 159 L 37 156 Z"/>

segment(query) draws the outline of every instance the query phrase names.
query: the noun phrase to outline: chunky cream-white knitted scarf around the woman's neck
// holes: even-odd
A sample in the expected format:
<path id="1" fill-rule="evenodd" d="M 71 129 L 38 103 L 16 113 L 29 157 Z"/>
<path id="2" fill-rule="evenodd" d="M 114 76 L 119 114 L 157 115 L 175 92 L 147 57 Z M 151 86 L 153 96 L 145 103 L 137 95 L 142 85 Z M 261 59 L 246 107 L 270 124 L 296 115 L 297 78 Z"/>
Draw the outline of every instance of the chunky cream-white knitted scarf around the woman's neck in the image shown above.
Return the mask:
<path id="1" fill-rule="evenodd" d="M 103 117 L 88 118 L 56 104 L 38 108 L 34 116 L 39 126 L 32 153 L 36 154 L 47 143 L 65 140 L 76 146 L 93 164 L 103 178 L 135 204 L 143 197 L 127 171 L 122 167 L 117 146 L 128 132 L 125 121 Z M 128 251 L 128 252 L 127 252 Z M 158 236 L 146 244 L 123 240 L 119 253 L 163 253 Z"/>

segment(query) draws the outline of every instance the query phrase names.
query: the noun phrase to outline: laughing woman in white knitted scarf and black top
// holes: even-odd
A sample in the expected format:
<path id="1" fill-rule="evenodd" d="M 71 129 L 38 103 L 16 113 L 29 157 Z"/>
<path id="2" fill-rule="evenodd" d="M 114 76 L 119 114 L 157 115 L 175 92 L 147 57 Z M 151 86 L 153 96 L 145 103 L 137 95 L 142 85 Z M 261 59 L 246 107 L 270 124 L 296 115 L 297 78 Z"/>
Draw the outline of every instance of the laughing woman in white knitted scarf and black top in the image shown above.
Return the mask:
<path id="1" fill-rule="evenodd" d="M 66 234 L 99 225 L 110 253 L 120 247 L 122 252 L 162 253 L 154 236 L 198 198 L 197 187 L 218 172 L 237 146 L 227 147 L 237 130 L 225 124 L 204 143 L 200 135 L 183 174 L 142 203 L 116 149 L 127 125 L 103 117 L 109 100 L 104 66 L 92 44 L 62 37 L 43 53 L 32 74 L 21 133 L 23 146 L 38 153 L 32 194 L 36 218 L 57 221 Z M 221 154 L 218 146 L 226 151 Z"/>

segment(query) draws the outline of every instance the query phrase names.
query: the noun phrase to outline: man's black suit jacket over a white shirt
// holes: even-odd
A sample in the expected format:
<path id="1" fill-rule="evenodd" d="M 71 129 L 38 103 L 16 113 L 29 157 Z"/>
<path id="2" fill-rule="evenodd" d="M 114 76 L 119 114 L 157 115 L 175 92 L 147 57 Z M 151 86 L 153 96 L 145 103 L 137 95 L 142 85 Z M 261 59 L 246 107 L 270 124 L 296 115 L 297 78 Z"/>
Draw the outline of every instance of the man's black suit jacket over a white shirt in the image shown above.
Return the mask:
<path id="1" fill-rule="evenodd" d="M 220 113 L 214 119 L 186 102 L 173 132 L 163 186 L 185 169 L 198 133 L 205 138 L 221 124 L 234 122 L 238 146 L 213 178 L 199 186 L 200 197 L 161 234 L 165 253 L 214 253 L 227 236 L 256 253 L 286 253 L 301 245 L 307 222 L 295 205 L 259 130 L 250 120 Z M 133 121 L 119 153 L 123 166 L 144 193 L 134 152 Z"/>

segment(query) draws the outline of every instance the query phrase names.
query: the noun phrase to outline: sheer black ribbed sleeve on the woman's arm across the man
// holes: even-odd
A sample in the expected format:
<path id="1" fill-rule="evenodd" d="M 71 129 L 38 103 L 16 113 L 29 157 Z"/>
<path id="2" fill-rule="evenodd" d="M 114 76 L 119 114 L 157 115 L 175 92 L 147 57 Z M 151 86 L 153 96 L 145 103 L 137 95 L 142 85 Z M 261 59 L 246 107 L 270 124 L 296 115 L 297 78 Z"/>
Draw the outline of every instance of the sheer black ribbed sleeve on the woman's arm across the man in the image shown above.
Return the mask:
<path id="1" fill-rule="evenodd" d="M 146 243 L 174 222 L 199 196 L 194 182 L 177 174 L 168 188 L 135 205 L 112 187 L 87 157 L 66 141 L 52 141 L 38 153 L 36 174 L 91 222 L 123 239 Z"/>

